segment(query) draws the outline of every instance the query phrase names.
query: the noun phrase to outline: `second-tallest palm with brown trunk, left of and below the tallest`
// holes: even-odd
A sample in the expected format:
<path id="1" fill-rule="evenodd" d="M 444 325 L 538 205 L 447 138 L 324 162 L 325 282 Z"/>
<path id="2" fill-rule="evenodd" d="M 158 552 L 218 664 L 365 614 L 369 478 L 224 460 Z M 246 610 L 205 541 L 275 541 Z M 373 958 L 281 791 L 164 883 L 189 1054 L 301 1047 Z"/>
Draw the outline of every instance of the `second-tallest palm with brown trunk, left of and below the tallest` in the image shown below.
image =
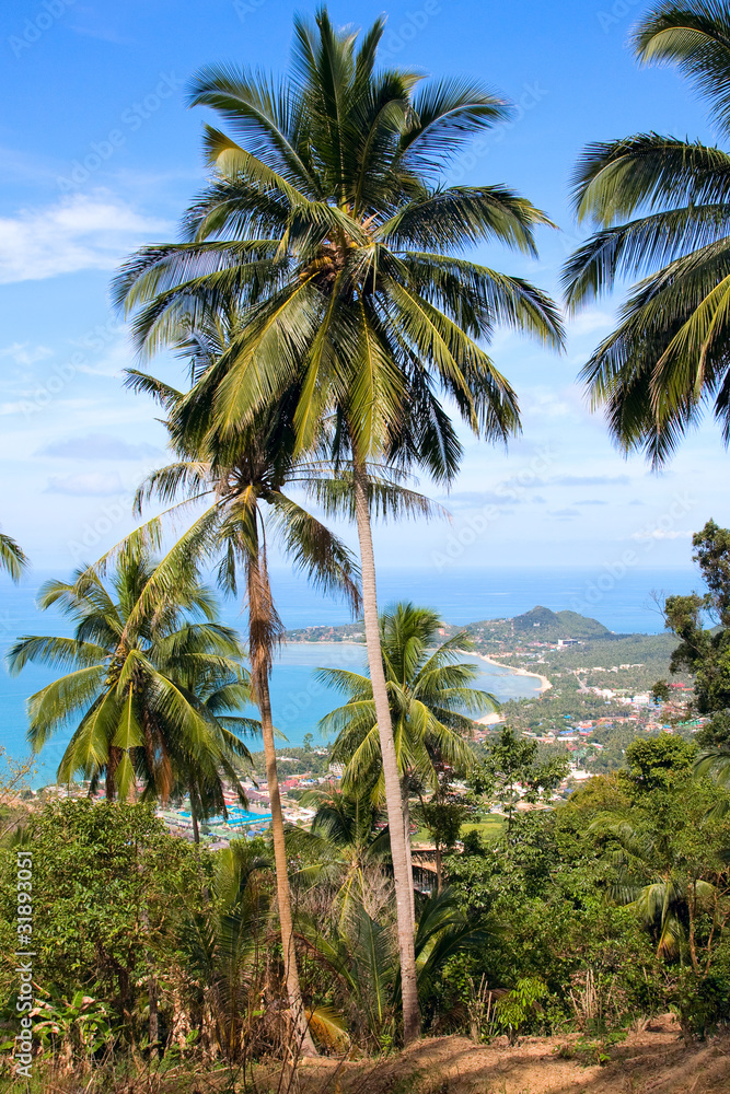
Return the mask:
<path id="1" fill-rule="evenodd" d="M 218 368 L 220 356 L 237 330 L 233 309 L 225 318 L 210 315 L 178 345 L 188 353 L 193 379 Z M 320 475 L 316 464 L 294 456 L 292 398 L 263 409 L 255 422 L 234 435 L 222 435 L 213 424 L 213 400 L 201 396 L 190 404 L 181 392 L 140 373 L 130 384 L 154 395 L 167 411 L 176 463 L 152 473 L 138 492 L 138 508 L 151 498 L 171 503 L 167 515 L 190 514 L 187 529 L 158 566 L 149 586 L 151 596 L 172 591 L 179 574 L 202 559 L 218 561 L 221 586 L 235 593 L 243 574 L 248 614 L 248 655 L 254 701 L 260 713 L 266 777 L 271 806 L 271 833 L 277 897 L 285 959 L 285 979 L 292 1020 L 305 1054 L 314 1054 L 304 1019 L 294 951 L 287 871 L 283 815 L 276 764 L 269 677 L 283 628 L 276 610 L 268 574 L 268 539 L 273 537 L 297 569 L 326 591 L 343 593 L 357 609 L 358 569 L 350 551 L 316 517 L 289 496 L 287 487 L 306 487 Z M 208 395 L 211 393 L 208 392 Z M 384 496 L 389 494 L 383 484 Z M 178 500 L 179 499 L 179 500 Z M 195 512 L 195 507 L 202 507 Z M 159 543 L 164 515 L 142 525 L 128 543 Z"/>

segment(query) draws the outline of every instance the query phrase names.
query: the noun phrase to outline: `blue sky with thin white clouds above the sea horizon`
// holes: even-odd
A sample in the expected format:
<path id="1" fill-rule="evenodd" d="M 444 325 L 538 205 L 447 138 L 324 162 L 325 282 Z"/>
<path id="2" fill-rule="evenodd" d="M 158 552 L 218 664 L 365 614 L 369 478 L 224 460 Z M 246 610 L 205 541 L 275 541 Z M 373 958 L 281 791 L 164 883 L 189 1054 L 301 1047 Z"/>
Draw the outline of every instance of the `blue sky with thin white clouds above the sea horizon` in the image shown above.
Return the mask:
<path id="1" fill-rule="evenodd" d="M 686 84 L 640 69 L 627 48 L 641 11 L 629 0 L 510 4 L 412 0 L 387 9 L 391 62 L 479 78 L 519 104 L 452 181 L 506 183 L 547 210 L 537 261 L 480 257 L 556 291 L 581 237 L 567 203 L 571 165 L 589 141 L 657 130 L 714 140 Z M 0 15 L 0 521 L 42 569 L 97 557 L 132 526 L 130 494 L 164 462 L 164 431 L 125 392 L 134 363 L 108 305 L 120 258 L 175 236 L 205 179 L 205 112 L 185 106 L 200 66 L 233 60 L 282 70 L 291 16 L 282 0 L 14 0 Z M 367 25 L 380 3 L 331 4 Z M 623 459 L 576 384 L 612 325 L 601 301 L 548 353 L 499 333 L 493 356 L 517 387 L 523 435 L 503 453 L 466 438 L 447 500 L 451 526 L 381 529 L 389 566 L 665 567 L 688 561 L 690 535 L 727 523 L 727 456 L 711 422 L 658 477 Z M 159 374 L 176 365 L 160 360 Z M 422 488 L 430 491 L 427 482 Z"/>

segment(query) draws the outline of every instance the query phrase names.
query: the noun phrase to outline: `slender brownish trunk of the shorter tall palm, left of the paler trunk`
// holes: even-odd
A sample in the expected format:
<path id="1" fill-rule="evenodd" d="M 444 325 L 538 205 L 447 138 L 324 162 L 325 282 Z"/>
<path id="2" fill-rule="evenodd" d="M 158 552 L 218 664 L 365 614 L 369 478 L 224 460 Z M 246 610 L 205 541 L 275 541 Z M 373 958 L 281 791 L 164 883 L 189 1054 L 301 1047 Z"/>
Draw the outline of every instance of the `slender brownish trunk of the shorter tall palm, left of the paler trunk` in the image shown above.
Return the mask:
<path id="1" fill-rule="evenodd" d="M 251 676 L 256 705 L 260 714 L 262 736 L 264 738 L 264 756 L 266 759 L 266 781 L 271 807 L 271 835 L 274 841 L 274 868 L 276 872 L 277 900 L 279 905 L 279 924 L 281 928 L 281 948 L 283 952 L 285 980 L 287 998 L 294 1024 L 294 1056 L 316 1056 L 317 1051 L 309 1031 L 302 992 L 297 968 L 297 952 L 294 950 L 294 933 L 291 916 L 291 896 L 289 893 L 289 873 L 287 870 L 287 849 L 283 838 L 283 814 L 281 812 L 281 795 L 279 793 L 279 777 L 276 766 L 276 747 L 274 744 L 274 721 L 271 719 L 271 697 L 269 693 L 269 673 L 271 667 L 270 644 L 264 636 L 273 631 L 273 619 L 269 606 L 271 594 L 266 574 L 266 565 L 258 560 L 248 562 L 248 639 Z"/>

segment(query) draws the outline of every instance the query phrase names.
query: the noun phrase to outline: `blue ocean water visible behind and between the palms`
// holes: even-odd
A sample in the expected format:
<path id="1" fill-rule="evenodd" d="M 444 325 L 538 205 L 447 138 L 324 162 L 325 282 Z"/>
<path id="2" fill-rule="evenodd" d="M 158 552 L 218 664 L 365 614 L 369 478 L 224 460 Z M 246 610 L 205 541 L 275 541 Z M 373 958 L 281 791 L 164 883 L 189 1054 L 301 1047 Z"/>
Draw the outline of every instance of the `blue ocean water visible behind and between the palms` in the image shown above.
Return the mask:
<path id="1" fill-rule="evenodd" d="M 25 740 L 27 696 L 55 678 L 55 673 L 28 665 L 16 676 L 9 676 L 4 654 L 20 635 L 68 635 L 68 622 L 53 609 L 39 613 L 35 607 L 38 585 L 50 574 L 35 573 L 20 586 L 2 579 L 0 594 L 0 745 L 10 756 L 27 755 Z M 321 596 L 291 573 L 275 570 L 271 584 L 277 607 L 288 628 L 337 626 L 350 621 L 347 607 Z M 386 607 L 396 600 L 410 600 L 438 610 L 447 622 L 456 625 L 477 619 L 520 615 L 535 605 L 554 612 L 569 609 L 592 616 L 610 630 L 621 633 L 657 633 L 663 620 L 652 597 L 669 593 L 688 593 L 697 587 L 696 573 L 682 570 L 625 569 L 382 569 L 379 573 L 379 601 Z M 222 616 L 231 626 L 242 622 L 241 609 L 232 603 L 222 605 Z M 510 670 L 475 661 L 479 670 L 477 687 L 498 699 L 521 698 L 538 689 L 535 677 L 519 676 Z M 347 667 L 359 672 L 364 666 L 364 649 L 341 642 L 289 644 L 281 650 L 271 679 L 275 724 L 286 746 L 300 745 L 304 734 L 322 740 L 317 723 L 340 699 L 318 684 L 318 667 Z M 70 730 L 60 732 L 36 759 L 35 785 L 55 778 Z M 286 740 L 285 740 L 286 738 Z M 257 740 L 250 742 L 255 750 Z"/>

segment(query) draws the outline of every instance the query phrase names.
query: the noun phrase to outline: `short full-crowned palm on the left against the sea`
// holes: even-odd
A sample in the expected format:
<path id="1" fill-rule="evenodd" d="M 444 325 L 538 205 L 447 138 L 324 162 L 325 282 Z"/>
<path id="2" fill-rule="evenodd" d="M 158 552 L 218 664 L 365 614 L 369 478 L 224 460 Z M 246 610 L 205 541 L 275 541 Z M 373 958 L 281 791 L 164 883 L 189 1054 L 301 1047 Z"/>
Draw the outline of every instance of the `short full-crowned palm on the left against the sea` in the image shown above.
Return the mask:
<path id="1" fill-rule="evenodd" d="M 233 730 L 257 729 L 241 715 L 222 717 L 248 697 L 243 650 L 235 632 L 216 621 L 210 594 L 197 582 L 146 597 L 153 573 L 150 555 L 130 549 L 118 559 L 111 590 L 90 570 L 42 587 L 40 608 L 60 607 L 76 629 L 73 638 L 21 637 L 8 654 L 12 673 L 28 662 L 71 670 L 31 696 L 28 740 L 37 753 L 80 719 L 60 782 L 82 771 L 93 790 L 104 775 L 113 799 L 141 778 L 144 793 L 163 801 L 182 783 L 194 812 L 200 795 L 206 810 L 224 812 L 222 779 L 245 803 L 237 767 L 251 760 Z"/>

